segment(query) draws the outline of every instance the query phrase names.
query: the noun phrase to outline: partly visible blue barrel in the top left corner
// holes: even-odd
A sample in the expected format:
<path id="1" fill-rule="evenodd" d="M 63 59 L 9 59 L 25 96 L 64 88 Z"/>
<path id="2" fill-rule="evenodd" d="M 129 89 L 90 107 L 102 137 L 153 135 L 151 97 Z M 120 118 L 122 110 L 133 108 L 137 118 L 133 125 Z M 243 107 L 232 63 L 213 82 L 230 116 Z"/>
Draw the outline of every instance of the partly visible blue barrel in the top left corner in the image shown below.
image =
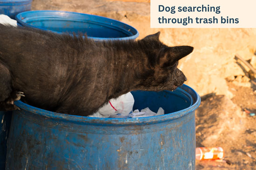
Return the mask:
<path id="1" fill-rule="evenodd" d="M 0 0 L 0 14 L 15 19 L 15 15 L 31 10 L 32 0 Z"/>

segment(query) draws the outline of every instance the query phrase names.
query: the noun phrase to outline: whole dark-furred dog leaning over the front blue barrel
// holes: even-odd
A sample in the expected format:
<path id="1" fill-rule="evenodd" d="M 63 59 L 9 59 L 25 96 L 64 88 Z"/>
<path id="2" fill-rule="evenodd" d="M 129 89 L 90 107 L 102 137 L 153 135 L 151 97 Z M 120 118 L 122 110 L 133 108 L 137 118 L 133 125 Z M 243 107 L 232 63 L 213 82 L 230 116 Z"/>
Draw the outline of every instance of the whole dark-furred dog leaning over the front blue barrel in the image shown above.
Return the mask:
<path id="1" fill-rule="evenodd" d="M 32 106 L 87 116 L 132 90 L 174 90 L 186 81 L 178 60 L 193 47 L 168 47 L 159 35 L 95 42 L 0 25 L 0 110 L 17 109 L 18 91 Z"/>

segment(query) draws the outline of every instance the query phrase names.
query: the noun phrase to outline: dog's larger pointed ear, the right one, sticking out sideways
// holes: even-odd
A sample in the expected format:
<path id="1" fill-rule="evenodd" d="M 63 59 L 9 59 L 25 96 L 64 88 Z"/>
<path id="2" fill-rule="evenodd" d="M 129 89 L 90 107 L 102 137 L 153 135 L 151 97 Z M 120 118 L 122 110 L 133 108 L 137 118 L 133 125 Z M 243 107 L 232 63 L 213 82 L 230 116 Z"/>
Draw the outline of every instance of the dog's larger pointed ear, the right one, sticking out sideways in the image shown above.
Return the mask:
<path id="1" fill-rule="evenodd" d="M 173 66 L 178 60 L 189 55 L 193 49 L 191 46 L 162 48 L 159 51 L 158 63 L 162 68 Z"/>

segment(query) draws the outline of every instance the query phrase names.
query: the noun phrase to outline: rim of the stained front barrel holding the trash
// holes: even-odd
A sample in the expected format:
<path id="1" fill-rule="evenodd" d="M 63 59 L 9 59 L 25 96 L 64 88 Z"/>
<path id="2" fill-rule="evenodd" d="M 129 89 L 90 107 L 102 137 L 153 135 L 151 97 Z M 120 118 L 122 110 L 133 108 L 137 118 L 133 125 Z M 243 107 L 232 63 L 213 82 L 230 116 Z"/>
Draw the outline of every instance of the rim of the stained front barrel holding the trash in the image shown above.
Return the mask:
<path id="1" fill-rule="evenodd" d="M 37 107 L 33 107 L 23 103 L 22 101 L 15 101 L 15 105 L 20 107 L 20 109 L 55 120 L 63 120 L 63 121 L 71 121 L 77 123 L 93 123 L 93 124 L 147 124 L 152 122 L 162 122 L 177 119 L 183 117 L 191 112 L 194 112 L 197 107 L 199 107 L 201 98 L 199 94 L 195 92 L 193 88 L 183 84 L 180 88 L 189 88 L 192 93 L 196 96 L 195 102 L 192 106 L 185 108 L 183 110 L 167 113 L 159 116 L 150 116 L 150 117 L 142 117 L 142 118 L 94 118 L 94 117 L 86 117 L 86 116 L 77 116 L 77 115 L 69 115 L 63 113 L 55 113 L 51 111 L 47 111 L 44 109 L 40 109 Z M 189 92 L 188 92 L 189 93 Z"/>

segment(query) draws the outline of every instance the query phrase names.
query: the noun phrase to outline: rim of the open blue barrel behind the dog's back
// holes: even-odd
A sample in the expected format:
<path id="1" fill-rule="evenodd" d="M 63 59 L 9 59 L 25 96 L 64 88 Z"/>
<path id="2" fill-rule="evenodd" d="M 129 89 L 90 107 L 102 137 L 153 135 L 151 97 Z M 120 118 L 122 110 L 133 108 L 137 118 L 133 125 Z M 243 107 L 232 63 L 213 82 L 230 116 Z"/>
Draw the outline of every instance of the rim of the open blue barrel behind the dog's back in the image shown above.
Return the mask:
<path id="1" fill-rule="evenodd" d="M 121 29 L 122 31 L 125 31 L 126 33 L 130 32 L 132 33 L 133 35 L 132 36 L 129 36 L 129 37 L 123 37 L 123 38 L 98 38 L 98 37 L 88 37 L 88 38 L 93 38 L 94 40 L 128 40 L 128 39 L 135 39 L 135 38 L 138 38 L 139 37 L 139 31 L 137 31 L 137 29 L 135 29 L 133 26 L 131 25 L 128 25 L 126 23 L 123 23 L 121 21 L 118 21 L 118 20 L 115 20 L 115 19 L 110 19 L 110 18 L 107 18 L 107 17 L 102 17 L 102 16 L 98 16 L 98 15 L 93 15 L 93 14 L 87 14 L 87 13 L 75 13 L 75 12 L 68 12 L 68 11 L 54 11 L 54 10 L 38 10 L 38 11 L 26 11 L 26 12 L 22 12 L 22 13 L 19 13 L 15 16 L 15 19 L 17 20 L 17 22 L 22 25 L 22 26 L 27 26 L 27 27 L 30 27 L 30 28 L 37 28 L 37 29 L 40 29 L 40 30 L 45 30 L 45 31 L 51 31 L 51 30 L 47 30 L 45 28 L 41 28 L 41 27 L 37 27 L 37 26 L 33 26 L 33 25 L 29 25 L 27 24 L 26 22 L 23 22 L 23 19 L 22 19 L 22 15 L 26 15 L 26 14 L 34 14 L 34 13 L 54 13 L 56 14 L 55 17 L 61 17 L 61 13 L 63 14 L 72 14 L 73 16 L 74 15 L 77 15 L 77 16 L 92 16 L 92 17 L 95 17 L 97 19 L 105 19 L 109 22 L 115 22 L 115 23 L 118 23 L 118 24 L 121 24 L 121 25 L 124 25 L 126 27 L 128 27 L 130 30 L 134 31 L 135 33 L 132 33 L 131 31 L 129 30 L 126 30 L 126 29 L 122 29 L 121 27 L 117 27 L 115 25 L 108 25 L 108 26 L 111 26 L 112 29 L 115 29 L 116 27 Z M 58 15 L 59 14 L 59 15 Z M 34 16 L 34 15 L 31 15 L 31 17 Z M 53 16 L 53 15 L 52 15 Z M 45 16 L 46 17 L 46 16 Z M 63 16 L 62 16 L 63 17 Z M 27 17 L 26 17 L 27 18 Z M 63 17 L 64 18 L 64 17 Z M 25 18 L 24 18 L 25 19 Z M 64 18 L 65 19 L 65 18 Z M 72 19 L 72 18 L 66 18 L 66 19 Z M 74 18 L 73 18 L 74 19 Z M 81 20 L 81 19 L 80 19 Z M 99 24 L 106 24 L 106 23 L 101 23 L 101 22 L 96 22 L 94 21 L 95 23 L 99 23 Z M 106 24 L 107 25 L 107 24 Z M 55 33 L 63 33 L 63 32 L 59 32 L 59 31 L 52 31 L 52 32 L 55 32 Z"/>

